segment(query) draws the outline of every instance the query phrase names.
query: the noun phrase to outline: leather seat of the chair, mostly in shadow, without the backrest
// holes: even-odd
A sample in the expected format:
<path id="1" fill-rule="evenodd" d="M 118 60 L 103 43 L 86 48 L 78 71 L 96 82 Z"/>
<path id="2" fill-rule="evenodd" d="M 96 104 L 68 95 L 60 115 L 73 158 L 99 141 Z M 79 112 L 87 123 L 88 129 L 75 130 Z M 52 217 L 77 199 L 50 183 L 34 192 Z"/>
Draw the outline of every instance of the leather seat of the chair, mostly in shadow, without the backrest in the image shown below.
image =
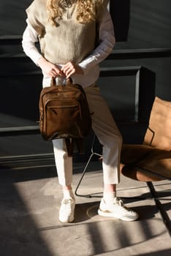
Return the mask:
<path id="1" fill-rule="evenodd" d="M 121 162 L 121 173 L 138 181 L 171 178 L 170 151 L 145 145 L 123 145 Z"/>

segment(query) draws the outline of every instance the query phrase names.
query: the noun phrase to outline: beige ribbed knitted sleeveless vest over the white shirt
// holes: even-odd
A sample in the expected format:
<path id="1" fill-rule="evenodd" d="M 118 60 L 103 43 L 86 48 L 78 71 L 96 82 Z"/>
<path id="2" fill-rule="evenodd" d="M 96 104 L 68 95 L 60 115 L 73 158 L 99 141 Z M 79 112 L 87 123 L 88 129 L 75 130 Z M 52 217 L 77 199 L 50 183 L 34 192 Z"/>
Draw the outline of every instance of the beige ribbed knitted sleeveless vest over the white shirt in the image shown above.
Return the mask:
<path id="1" fill-rule="evenodd" d="M 66 8 L 58 26 L 47 22 L 46 0 L 34 0 L 26 10 L 31 26 L 39 33 L 42 54 L 53 64 L 80 63 L 94 50 L 96 22 L 78 23 L 76 9 L 76 4 Z"/>

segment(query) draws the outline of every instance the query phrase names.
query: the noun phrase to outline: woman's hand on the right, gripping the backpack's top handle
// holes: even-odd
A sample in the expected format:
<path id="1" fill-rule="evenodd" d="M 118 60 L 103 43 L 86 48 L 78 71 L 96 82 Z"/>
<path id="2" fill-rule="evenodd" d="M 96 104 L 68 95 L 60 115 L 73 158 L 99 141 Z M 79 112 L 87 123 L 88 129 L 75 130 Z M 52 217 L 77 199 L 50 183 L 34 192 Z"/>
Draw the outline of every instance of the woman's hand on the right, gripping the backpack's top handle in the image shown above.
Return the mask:
<path id="1" fill-rule="evenodd" d="M 63 74 L 66 76 L 66 78 L 69 78 L 73 74 L 80 74 L 80 75 L 84 74 L 83 69 L 71 61 L 67 62 L 61 68 L 61 72 L 63 72 Z"/>

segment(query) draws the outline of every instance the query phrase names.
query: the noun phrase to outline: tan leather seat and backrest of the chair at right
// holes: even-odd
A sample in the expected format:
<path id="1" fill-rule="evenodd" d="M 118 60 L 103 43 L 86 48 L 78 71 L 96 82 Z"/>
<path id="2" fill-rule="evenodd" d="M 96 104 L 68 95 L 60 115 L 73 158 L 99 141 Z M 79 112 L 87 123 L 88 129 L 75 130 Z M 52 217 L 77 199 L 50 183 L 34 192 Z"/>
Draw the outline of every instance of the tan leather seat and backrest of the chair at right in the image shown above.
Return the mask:
<path id="1" fill-rule="evenodd" d="M 123 145 L 121 173 L 138 181 L 171 178 L 171 102 L 156 97 L 144 145 Z"/>

